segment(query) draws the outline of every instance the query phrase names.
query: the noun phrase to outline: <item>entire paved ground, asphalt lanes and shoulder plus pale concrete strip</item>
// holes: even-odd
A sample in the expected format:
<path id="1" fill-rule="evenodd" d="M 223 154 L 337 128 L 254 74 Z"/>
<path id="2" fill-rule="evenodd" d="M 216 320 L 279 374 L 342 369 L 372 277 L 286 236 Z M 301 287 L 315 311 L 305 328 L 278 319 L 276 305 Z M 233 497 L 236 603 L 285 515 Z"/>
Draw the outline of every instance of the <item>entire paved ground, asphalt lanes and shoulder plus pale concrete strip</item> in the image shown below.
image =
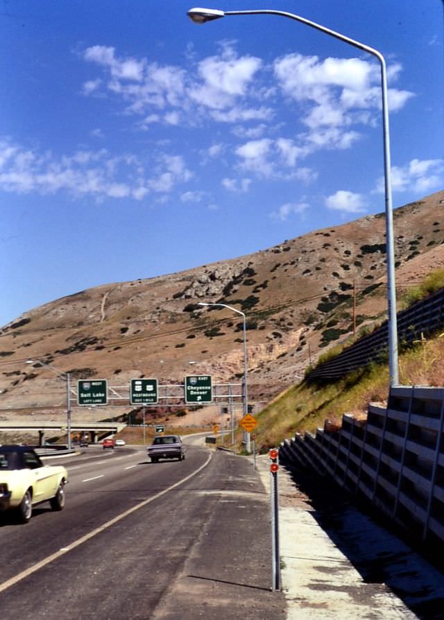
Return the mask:
<path id="1" fill-rule="evenodd" d="M 69 458 L 67 506 L 0 522 L 1 617 L 37 620 L 444 618 L 443 574 L 333 485 L 280 467 L 273 592 L 268 456 L 141 449 Z"/>

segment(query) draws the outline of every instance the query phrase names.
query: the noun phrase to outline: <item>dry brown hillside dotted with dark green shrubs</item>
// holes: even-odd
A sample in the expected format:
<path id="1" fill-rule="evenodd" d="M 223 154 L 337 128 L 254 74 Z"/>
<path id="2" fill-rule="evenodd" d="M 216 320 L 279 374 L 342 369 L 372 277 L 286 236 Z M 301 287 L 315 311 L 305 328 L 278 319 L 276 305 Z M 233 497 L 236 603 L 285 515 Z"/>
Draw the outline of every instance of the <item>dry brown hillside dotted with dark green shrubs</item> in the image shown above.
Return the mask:
<path id="1" fill-rule="evenodd" d="M 444 191 L 396 209 L 394 226 L 401 291 L 444 266 Z M 32 309 L 0 330 L 0 410 L 50 406 L 60 393 L 60 379 L 27 359 L 113 386 L 144 376 L 177 384 L 194 372 L 238 381 L 241 317 L 199 301 L 246 312 L 249 394 L 262 408 L 352 334 L 354 286 L 358 328 L 384 318 L 384 239 L 384 214 L 366 216 L 252 255 L 103 284 Z"/>

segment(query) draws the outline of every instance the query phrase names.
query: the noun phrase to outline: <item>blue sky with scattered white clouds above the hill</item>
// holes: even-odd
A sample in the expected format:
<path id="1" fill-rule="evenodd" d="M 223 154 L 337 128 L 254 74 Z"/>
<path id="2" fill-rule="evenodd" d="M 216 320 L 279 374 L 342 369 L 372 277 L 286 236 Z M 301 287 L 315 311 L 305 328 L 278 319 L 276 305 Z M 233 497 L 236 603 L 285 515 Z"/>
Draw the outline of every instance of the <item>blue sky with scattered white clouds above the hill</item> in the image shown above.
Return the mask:
<path id="1" fill-rule="evenodd" d="M 0 325 L 384 211 L 373 57 L 283 17 L 197 26 L 192 6 L 0 0 Z M 203 6 L 381 51 L 393 205 L 444 188 L 441 0 Z"/>

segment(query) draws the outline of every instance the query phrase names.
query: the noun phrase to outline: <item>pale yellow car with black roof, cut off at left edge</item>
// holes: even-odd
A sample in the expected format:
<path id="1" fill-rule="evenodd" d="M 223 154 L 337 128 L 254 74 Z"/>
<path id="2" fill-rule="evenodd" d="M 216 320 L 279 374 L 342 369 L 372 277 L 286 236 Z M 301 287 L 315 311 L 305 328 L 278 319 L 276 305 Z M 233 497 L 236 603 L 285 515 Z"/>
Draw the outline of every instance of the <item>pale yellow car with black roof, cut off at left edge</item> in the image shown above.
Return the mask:
<path id="1" fill-rule="evenodd" d="M 62 510 L 67 481 L 65 467 L 44 465 L 33 448 L 0 445 L 0 511 L 15 510 L 19 522 L 27 523 L 33 506 L 42 501 Z"/>

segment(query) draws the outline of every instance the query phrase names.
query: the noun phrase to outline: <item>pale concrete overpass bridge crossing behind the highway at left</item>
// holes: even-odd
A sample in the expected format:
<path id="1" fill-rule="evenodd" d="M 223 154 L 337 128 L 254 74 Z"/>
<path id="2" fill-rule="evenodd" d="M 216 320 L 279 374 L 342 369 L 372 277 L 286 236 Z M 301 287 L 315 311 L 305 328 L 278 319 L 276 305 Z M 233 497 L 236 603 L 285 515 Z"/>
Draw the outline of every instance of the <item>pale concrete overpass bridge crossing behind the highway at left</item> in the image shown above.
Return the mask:
<path id="1" fill-rule="evenodd" d="M 123 422 L 71 422 L 71 433 L 89 433 L 94 442 L 99 434 L 111 435 L 119 433 L 126 428 Z M 36 431 L 39 433 L 39 445 L 43 445 L 44 433 L 47 431 L 67 432 L 67 423 L 58 421 L 39 422 L 38 420 L 27 420 L 26 422 L 4 422 L 0 421 L 0 431 Z"/>

